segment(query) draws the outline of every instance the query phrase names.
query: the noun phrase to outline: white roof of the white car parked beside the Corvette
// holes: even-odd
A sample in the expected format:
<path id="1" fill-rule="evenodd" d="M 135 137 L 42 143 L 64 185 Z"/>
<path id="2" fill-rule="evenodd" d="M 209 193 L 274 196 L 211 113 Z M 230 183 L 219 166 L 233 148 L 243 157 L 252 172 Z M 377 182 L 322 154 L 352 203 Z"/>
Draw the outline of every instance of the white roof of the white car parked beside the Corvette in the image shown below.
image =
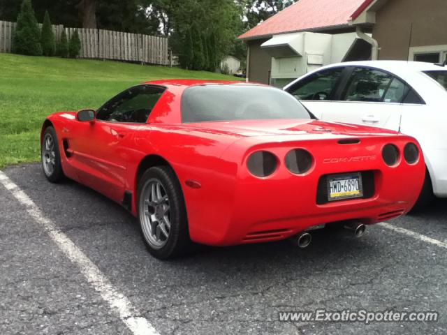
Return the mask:
<path id="1" fill-rule="evenodd" d="M 422 61 L 346 61 L 344 63 L 331 64 L 334 66 L 372 66 L 381 68 L 393 73 L 395 71 L 413 70 L 415 72 L 430 70 L 447 70 L 446 66 L 439 66 L 433 63 L 425 63 Z"/>

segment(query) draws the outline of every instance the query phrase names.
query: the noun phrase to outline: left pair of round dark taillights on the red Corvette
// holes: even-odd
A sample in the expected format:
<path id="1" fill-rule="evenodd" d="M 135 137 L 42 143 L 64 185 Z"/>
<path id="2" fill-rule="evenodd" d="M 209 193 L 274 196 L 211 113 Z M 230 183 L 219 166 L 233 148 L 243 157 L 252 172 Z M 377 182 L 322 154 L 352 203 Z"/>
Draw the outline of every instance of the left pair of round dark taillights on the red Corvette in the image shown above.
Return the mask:
<path id="1" fill-rule="evenodd" d="M 293 174 L 305 174 L 314 165 L 314 158 L 309 151 L 293 149 L 284 158 L 286 168 Z M 256 151 L 249 156 L 247 167 L 256 177 L 268 177 L 279 166 L 279 158 L 270 151 Z"/>

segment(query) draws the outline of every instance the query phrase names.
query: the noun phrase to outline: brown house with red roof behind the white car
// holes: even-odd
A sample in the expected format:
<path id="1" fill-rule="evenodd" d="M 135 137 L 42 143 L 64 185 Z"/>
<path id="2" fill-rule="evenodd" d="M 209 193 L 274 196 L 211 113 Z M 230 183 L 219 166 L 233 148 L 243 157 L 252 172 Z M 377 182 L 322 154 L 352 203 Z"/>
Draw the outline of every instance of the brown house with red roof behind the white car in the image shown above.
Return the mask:
<path id="1" fill-rule="evenodd" d="M 444 61 L 446 0 L 299 0 L 240 36 L 247 77 L 282 87 L 339 61 Z"/>

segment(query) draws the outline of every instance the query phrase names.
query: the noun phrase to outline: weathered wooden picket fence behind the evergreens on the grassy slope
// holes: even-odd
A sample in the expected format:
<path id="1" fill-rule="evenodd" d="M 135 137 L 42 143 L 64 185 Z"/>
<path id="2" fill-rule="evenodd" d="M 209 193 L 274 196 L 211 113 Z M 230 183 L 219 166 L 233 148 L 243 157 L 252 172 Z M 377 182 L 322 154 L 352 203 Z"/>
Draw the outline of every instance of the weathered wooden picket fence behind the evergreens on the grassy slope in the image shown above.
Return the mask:
<path id="1" fill-rule="evenodd" d="M 15 22 L 0 21 L 0 52 L 13 52 Z M 74 28 L 53 25 L 59 40 L 62 31 L 70 37 Z M 172 65 L 168 38 L 103 29 L 78 29 L 81 40 L 80 58 L 138 61 L 147 64 Z"/>

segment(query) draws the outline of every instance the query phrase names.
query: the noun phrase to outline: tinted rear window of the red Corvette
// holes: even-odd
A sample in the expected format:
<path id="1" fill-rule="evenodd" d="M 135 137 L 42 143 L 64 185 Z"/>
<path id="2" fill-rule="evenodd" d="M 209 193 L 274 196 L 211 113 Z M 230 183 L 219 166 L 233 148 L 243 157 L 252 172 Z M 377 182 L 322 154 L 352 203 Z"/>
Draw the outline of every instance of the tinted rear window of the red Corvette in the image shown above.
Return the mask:
<path id="1" fill-rule="evenodd" d="M 311 119 L 311 116 L 293 96 L 273 87 L 211 84 L 184 91 L 184 123 L 263 119 Z"/>

